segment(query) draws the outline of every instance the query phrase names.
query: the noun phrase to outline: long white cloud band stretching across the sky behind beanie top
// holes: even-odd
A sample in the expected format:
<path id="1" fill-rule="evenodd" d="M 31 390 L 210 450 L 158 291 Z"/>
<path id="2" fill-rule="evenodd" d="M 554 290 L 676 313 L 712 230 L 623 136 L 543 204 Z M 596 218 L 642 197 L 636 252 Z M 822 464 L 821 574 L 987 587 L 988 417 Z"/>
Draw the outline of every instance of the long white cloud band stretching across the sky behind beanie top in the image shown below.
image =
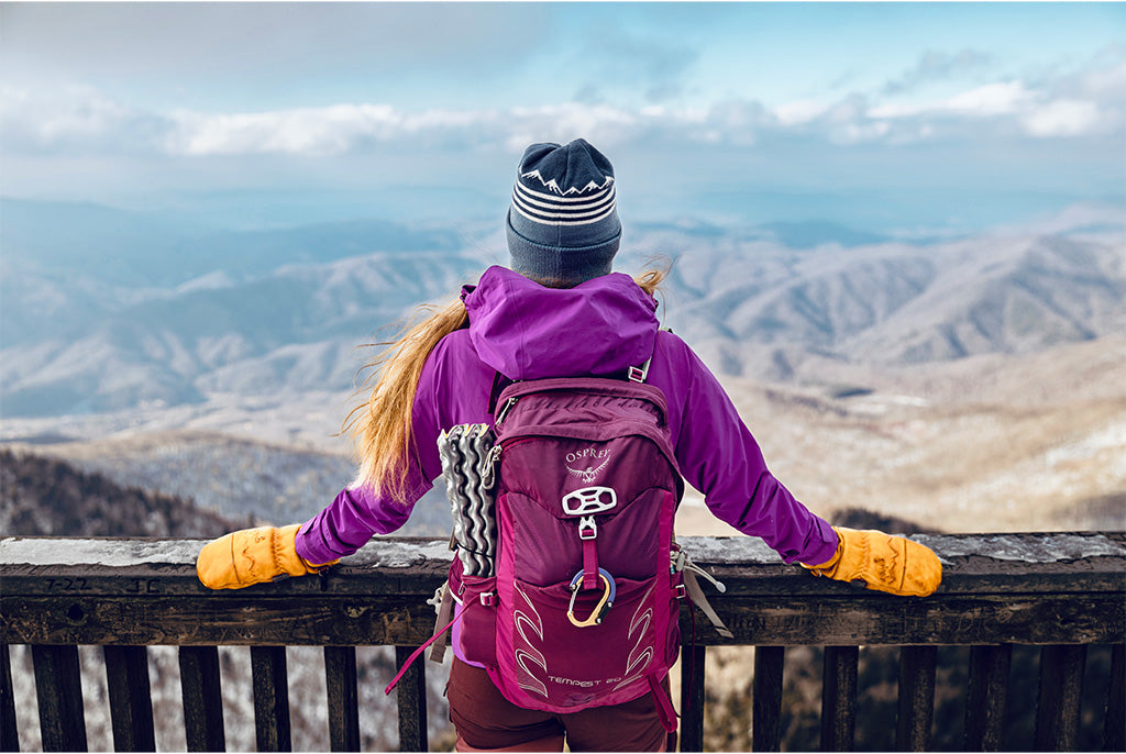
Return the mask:
<path id="1" fill-rule="evenodd" d="M 660 56 L 656 56 L 660 57 Z M 674 61 L 679 60 L 679 63 Z M 638 63 L 649 83 L 673 82 L 688 57 Z M 749 146 L 796 138 L 825 145 L 929 140 L 1118 137 L 1126 125 L 1126 60 L 1100 54 L 1088 70 L 1030 84 L 994 81 L 911 104 L 852 93 L 768 108 L 748 99 L 709 107 L 667 102 L 565 102 L 543 107 L 408 109 L 379 102 L 260 113 L 152 111 L 90 87 L 0 87 L 0 149 L 10 155 L 150 154 L 193 159 L 235 155 L 386 153 L 403 149 L 519 151 L 534 141 L 586 136 L 613 146 L 631 141 Z M 939 66 L 941 68 L 941 66 Z M 671 84 L 670 84 L 671 86 Z"/>

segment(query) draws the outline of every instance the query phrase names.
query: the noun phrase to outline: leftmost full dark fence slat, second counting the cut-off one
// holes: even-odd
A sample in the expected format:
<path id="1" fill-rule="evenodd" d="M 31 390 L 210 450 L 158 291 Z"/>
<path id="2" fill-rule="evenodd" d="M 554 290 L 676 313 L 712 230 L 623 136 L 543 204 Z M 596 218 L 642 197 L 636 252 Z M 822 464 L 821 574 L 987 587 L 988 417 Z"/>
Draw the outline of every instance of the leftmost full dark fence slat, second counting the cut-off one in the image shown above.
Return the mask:
<path id="1" fill-rule="evenodd" d="M 82 675 L 74 645 L 32 645 L 39 733 L 45 752 L 84 752 Z"/>

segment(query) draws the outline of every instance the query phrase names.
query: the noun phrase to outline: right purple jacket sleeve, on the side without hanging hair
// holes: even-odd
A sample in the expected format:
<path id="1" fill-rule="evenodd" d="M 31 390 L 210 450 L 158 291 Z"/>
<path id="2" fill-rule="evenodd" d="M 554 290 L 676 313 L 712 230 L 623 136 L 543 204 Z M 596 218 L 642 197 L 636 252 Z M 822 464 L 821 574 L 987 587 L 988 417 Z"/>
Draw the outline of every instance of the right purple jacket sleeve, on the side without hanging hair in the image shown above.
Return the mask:
<path id="1" fill-rule="evenodd" d="M 671 368 L 670 404 L 676 403 L 670 410 L 680 412 L 673 429 L 685 479 L 704 493 L 716 518 L 762 538 L 787 563 L 829 560 L 837 532 L 770 473 L 759 443 L 699 357 L 671 333 L 661 338 Z"/>

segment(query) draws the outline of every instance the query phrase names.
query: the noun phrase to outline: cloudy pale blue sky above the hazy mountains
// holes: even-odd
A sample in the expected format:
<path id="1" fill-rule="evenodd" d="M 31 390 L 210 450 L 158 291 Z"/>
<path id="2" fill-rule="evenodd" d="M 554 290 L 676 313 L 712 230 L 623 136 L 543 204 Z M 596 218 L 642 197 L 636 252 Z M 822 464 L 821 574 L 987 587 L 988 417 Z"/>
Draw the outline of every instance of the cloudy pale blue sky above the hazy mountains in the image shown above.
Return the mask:
<path id="1" fill-rule="evenodd" d="M 624 217 L 1117 209 L 1126 6 L 0 3 L 6 197 L 458 218 L 580 136 Z"/>

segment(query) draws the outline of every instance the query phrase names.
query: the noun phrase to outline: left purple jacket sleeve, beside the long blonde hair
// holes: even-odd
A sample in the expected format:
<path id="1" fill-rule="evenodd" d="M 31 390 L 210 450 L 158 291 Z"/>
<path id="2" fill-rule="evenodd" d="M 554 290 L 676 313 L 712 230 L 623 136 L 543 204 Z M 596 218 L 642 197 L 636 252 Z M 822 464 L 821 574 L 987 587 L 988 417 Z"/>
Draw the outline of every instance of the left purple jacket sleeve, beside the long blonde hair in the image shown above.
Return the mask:
<path id="1" fill-rule="evenodd" d="M 400 529 L 414 503 L 441 476 L 438 433 L 454 424 L 489 422 L 489 389 L 494 372 L 472 351 L 466 331 L 443 339 L 427 358 L 411 411 L 412 449 L 408 458 L 409 504 L 377 494 L 367 486 L 349 486 L 297 532 L 297 554 L 310 563 L 328 563 L 351 555 L 374 535 Z"/>

